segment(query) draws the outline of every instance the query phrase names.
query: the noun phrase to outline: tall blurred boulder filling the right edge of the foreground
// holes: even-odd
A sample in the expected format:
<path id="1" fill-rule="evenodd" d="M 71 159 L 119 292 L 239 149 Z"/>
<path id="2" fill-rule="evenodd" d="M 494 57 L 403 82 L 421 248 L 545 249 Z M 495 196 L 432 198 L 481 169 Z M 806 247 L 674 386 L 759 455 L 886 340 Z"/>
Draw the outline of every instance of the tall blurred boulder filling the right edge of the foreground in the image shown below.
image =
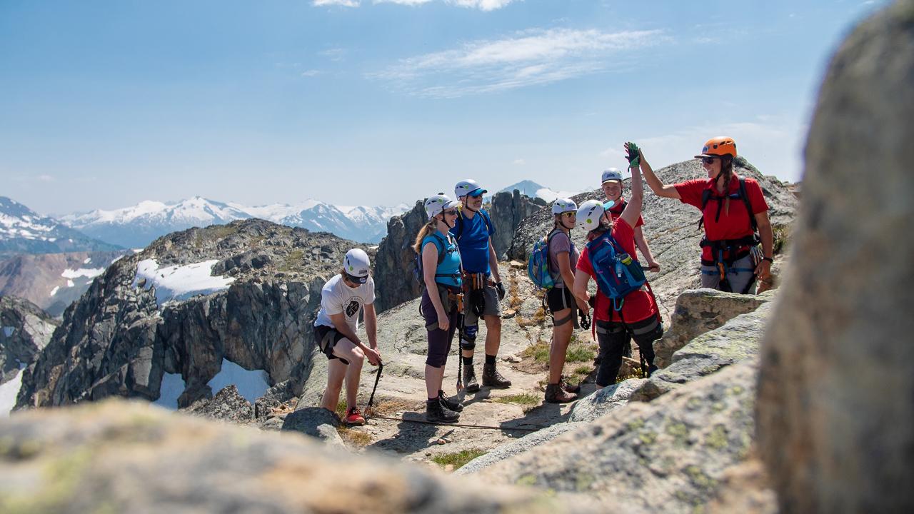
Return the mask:
<path id="1" fill-rule="evenodd" d="M 857 27 L 806 145 L 793 263 L 762 348 L 781 512 L 914 510 L 914 2 Z"/>

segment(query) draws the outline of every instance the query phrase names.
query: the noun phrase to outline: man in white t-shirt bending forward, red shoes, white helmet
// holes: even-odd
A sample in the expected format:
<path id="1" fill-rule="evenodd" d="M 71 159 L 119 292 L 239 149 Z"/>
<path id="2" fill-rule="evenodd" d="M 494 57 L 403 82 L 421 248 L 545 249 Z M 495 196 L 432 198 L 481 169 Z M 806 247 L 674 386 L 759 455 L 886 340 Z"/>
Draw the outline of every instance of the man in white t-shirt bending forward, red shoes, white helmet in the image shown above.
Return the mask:
<path id="1" fill-rule="evenodd" d="M 343 269 L 324 284 L 321 311 L 314 321 L 314 340 L 329 359 L 327 389 L 321 407 L 336 410 L 345 378 L 345 423 L 365 424 L 358 411 L 356 395 L 362 362 L 372 366 L 381 361 L 377 352 L 375 281 L 368 275 L 368 254 L 357 248 L 346 252 Z M 358 338 L 358 315 L 365 310 L 368 346 Z"/>

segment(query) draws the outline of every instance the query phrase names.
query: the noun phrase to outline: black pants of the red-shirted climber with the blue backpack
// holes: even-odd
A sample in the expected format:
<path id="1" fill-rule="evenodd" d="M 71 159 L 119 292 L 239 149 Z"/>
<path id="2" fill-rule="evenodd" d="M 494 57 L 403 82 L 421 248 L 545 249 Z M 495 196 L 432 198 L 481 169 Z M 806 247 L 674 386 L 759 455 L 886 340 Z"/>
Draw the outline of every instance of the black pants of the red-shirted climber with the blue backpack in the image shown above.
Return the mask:
<path id="1" fill-rule="evenodd" d="M 597 385 L 606 387 L 616 383 L 622 368 L 622 350 L 630 337 L 638 343 L 638 349 L 648 366 L 654 369 L 654 341 L 664 335 L 660 316 L 643 321 L 622 324 L 619 321 L 597 321 L 597 341 L 600 343 L 600 369 L 597 369 Z"/>

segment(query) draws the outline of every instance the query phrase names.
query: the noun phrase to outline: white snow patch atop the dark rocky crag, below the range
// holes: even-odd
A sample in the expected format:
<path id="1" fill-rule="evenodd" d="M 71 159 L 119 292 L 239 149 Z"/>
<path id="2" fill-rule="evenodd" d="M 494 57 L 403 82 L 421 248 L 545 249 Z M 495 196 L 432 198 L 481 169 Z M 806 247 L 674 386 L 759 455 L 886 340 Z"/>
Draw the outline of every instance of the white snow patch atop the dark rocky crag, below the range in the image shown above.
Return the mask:
<path id="1" fill-rule="evenodd" d="M 133 287 L 145 279 L 145 289 L 155 287 L 155 301 L 161 307 L 172 300 L 186 300 L 197 294 L 210 294 L 228 289 L 234 278 L 212 276 L 213 265 L 218 260 L 195 262 L 184 266 L 159 268 L 155 259 L 137 262 Z"/>

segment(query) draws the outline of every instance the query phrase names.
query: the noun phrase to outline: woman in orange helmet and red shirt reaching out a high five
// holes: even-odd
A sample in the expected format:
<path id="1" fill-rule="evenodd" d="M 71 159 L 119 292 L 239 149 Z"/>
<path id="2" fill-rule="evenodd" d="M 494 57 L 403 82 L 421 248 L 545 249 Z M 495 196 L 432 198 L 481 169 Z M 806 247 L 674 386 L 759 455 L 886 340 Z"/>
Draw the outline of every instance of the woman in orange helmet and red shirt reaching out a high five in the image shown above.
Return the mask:
<path id="1" fill-rule="evenodd" d="M 644 179 L 658 197 L 677 198 L 702 211 L 701 286 L 733 293 L 754 294 L 771 287 L 774 236 L 768 203 L 759 182 L 733 171 L 737 145 L 729 137 L 709 139 L 696 159 L 707 178 L 664 185 L 639 150 Z M 758 236 L 756 231 L 758 230 Z M 761 252 L 758 243 L 761 242 Z"/>

